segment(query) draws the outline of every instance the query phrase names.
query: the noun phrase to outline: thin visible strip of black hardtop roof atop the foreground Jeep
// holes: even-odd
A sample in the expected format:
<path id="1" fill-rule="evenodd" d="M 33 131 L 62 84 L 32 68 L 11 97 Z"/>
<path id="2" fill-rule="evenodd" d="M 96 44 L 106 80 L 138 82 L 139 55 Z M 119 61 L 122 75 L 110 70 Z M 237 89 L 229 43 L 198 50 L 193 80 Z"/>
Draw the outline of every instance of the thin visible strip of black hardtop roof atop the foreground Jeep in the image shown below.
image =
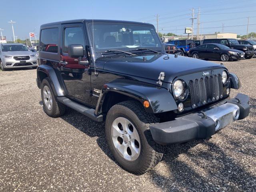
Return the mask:
<path id="1" fill-rule="evenodd" d="M 92 19 L 76 19 L 76 20 L 67 20 L 67 21 L 58 21 L 58 22 L 52 22 L 52 23 L 46 23 L 42 24 L 41 27 L 45 26 L 51 26 L 51 25 L 58 25 L 58 24 L 69 24 L 69 23 L 83 23 L 92 22 Z M 144 24 L 144 25 L 151 25 L 150 23 L 143 23 L 143 22 L 135 22 L 135 21 L 122 21 L 122 20 L 102 20 L 102 19 L 94 19 L 93 22 L 108 22 L 108 23 L 133 23 L 133 24 Z"/>

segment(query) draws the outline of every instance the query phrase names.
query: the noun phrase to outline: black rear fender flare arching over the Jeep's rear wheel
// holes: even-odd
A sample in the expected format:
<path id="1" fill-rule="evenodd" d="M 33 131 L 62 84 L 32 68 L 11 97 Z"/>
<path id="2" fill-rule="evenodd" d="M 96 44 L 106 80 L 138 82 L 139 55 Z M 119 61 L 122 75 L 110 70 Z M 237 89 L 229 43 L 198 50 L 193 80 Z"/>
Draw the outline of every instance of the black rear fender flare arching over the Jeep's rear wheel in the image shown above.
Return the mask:
<path id="1" fill-rule="evenodd" d="M 43 80 L 42 72 L 46 74 L 46 76 L 50 79 L 50 85 L 52 86 L 55 96 L 65 96 L 66 94 L 68 94 L 67 88 L 61 78 L 60 72 L 52 66 L 45 64 L 37 67 L 38 88 L 40 88 L 41 82 Z"/>

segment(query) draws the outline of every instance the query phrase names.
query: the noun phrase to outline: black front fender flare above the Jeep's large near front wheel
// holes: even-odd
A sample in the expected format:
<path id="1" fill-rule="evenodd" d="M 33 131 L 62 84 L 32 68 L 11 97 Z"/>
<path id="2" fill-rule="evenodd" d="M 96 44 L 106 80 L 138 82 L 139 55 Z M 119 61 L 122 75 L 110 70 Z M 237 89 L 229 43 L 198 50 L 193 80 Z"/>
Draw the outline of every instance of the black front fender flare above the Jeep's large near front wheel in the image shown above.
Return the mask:
<path id="1" fill-rule="evenodd" d="M 96 115 L 100 114 L 108 92 L 129 96 L 141 102 L 142 105 L 147 100 L 150 103 L 150 106 L 145 108 L 148 113 L 161 113 L 178 108 L 172 94 L 166 88 L 135 80 L 116 79 L 103 86 L 95 110 Z"/>

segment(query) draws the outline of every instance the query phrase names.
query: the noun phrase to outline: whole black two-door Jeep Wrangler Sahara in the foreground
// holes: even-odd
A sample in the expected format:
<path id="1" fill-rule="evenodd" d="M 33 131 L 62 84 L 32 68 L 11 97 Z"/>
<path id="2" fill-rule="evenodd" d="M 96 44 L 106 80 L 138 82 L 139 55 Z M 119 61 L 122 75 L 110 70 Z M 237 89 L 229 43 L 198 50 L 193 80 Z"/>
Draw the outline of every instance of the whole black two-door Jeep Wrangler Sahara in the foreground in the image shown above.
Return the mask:
<path id="1" fill-rule="evenodd" d="M 164 145 L 208 138 L 249 113 L 248 96 L 227 100 L 240 86 L 235 74 L 220 64 L 166 54 L 152 24 L 44 24 L 38 62 L 46 114 L 59 117 L 68 106 L 105 121 L 113 156 L 136 174 L 160 162 Z"/>

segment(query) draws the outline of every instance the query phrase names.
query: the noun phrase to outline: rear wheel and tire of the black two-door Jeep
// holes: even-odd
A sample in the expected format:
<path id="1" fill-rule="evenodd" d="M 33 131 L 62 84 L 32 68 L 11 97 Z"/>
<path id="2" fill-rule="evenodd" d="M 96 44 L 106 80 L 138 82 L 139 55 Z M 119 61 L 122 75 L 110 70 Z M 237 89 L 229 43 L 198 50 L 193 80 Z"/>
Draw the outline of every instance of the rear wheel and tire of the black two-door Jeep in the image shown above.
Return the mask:
<path id="1" fill-rule="evenodd" d="M 44 78 L 41 84 L 41 98 L 44 112 L 50 117 L 59 117 L 65 113 L 66 106 L 55 99 L 49 78 Z"/>

